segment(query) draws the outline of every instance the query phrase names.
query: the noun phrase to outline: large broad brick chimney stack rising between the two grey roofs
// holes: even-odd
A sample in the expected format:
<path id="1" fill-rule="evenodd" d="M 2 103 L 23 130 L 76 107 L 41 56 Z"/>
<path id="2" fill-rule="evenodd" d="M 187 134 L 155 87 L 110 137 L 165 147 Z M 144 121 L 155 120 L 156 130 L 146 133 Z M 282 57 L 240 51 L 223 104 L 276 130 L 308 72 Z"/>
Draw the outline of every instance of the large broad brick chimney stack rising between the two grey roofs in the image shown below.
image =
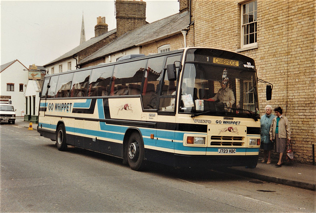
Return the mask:
<path id="1" fill-rule="evenodd" d="M 145 1 L 116 0 L 115 7 L 118 37 L 147 24 Z"/>

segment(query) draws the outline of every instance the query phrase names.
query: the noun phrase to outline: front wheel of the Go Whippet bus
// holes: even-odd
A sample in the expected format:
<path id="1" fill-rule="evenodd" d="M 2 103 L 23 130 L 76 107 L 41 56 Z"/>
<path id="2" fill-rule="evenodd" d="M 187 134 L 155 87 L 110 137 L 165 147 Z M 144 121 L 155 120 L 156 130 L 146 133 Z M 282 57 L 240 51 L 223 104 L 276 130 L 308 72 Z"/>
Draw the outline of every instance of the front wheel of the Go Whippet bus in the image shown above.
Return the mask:
<path id="1" fill-rule="evenodd" d="M 135 171 L 144 169 L 144 143 L 138 133 L 133 133 L 127 142 L 127 162 L 129 167 Z"/>

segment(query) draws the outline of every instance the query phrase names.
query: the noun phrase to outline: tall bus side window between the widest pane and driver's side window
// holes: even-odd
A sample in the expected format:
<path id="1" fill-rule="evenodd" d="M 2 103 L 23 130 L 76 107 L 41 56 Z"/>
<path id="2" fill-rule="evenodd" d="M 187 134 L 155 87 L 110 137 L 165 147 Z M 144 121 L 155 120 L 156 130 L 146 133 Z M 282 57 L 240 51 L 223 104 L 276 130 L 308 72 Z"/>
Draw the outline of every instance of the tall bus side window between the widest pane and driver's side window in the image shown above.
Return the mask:
<path id="1" fill-rule="evenodd" d="M 142 100 L 145 109 L 157 109 L 158 107 L 159 81 L 162 78 L 163 60 L 164 56 L 148 59 L 142 86 Z"/>

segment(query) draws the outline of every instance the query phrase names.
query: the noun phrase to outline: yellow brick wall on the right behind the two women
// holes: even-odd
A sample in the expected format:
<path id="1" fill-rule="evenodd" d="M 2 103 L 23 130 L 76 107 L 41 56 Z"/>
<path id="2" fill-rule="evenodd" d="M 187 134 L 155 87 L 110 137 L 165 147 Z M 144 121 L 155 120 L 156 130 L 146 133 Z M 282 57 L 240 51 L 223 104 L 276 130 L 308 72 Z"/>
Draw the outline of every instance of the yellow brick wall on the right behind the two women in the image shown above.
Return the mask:
<path id="1" fill-rule="evenodd" d="M 194 45 L 240 49 L 240 2 L 192 0 Z M 266 101 L 259 83 L 261 114 L 269 104 L 281 106 L 289 119 L 298 162 L 313 161 L 316 144 L 316 23 L 315 0 L 257 0 L 257 48 L 240 51 L 254 58 L 258 77 L 271 82 Z M 191 34 L 192 35 L 192 34 Z"/>

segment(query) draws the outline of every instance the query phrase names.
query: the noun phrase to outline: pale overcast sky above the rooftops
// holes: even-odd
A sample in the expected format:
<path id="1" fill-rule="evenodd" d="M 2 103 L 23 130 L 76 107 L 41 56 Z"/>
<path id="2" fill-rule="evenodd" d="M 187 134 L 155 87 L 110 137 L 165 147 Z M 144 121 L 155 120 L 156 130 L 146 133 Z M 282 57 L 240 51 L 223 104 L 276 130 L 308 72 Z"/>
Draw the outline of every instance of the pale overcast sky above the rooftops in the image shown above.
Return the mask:
<path id="1" fill-rule="evenodd" d="M 179 12 L 178 0 L 144 0 L 146 21 Z M 116 29 L 115 0 L 0 0 L 0 64 L 19 60 L 43 66 L 79 46 L 82 22 L 86 40 L 94 37 L 97 17 Z"/>

